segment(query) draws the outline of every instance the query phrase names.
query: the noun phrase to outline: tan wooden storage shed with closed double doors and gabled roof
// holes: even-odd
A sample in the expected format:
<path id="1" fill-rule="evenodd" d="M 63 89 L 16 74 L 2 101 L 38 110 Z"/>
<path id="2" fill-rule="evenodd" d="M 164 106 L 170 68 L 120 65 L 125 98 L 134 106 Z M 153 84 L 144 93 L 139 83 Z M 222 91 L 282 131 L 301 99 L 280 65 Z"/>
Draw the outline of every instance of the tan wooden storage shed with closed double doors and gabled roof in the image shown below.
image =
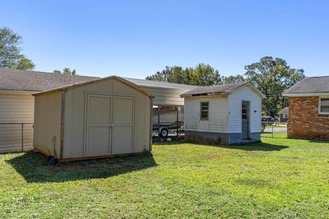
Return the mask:
<path id="1" fill-rule="evenodd" d="M 59 161 L 150 151 L 154 96 L 110 76 L 33 94 L 33 147 Z"/>

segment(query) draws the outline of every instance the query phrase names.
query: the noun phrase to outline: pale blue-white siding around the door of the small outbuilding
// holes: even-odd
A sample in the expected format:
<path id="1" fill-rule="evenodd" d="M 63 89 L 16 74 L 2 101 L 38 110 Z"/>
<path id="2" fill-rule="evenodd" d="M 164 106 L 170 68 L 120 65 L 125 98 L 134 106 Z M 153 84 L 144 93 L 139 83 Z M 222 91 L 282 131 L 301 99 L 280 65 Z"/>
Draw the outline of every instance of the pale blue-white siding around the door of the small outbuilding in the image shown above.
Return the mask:
<path id="1" fill-rule="evenodd" d="M 260 117 L 262 99 L 257 93 L 246 86 L 229 95 L 229 133 L 241 133 L 242 101 L 250 103 L 250 132 L 261 132 Z"/>

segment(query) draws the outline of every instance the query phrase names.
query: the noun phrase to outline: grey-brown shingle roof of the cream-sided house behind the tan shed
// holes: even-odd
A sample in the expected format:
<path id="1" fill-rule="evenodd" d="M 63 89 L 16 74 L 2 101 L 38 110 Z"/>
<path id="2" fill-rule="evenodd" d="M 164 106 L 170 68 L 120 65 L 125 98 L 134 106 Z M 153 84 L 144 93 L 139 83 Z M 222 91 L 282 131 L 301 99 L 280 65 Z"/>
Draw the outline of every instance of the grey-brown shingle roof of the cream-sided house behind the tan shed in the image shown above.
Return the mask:
<path id="1" fill-rule="evenodd" d="M 98 78 L 0 68 L 0 90 L 44 91 Z"/>

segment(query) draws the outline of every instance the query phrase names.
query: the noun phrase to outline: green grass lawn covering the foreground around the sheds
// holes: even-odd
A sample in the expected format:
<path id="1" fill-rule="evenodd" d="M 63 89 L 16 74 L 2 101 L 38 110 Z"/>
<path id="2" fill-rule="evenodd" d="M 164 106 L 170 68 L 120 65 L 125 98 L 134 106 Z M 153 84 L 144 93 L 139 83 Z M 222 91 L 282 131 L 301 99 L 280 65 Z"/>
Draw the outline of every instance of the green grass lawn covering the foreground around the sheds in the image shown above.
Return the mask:
<path id="1" fill-rule="evenodd" d="M 329 218 L 329 142 L 172 142 L 140 155 L 47 161 L 0 154 L 0 218 Z"/>

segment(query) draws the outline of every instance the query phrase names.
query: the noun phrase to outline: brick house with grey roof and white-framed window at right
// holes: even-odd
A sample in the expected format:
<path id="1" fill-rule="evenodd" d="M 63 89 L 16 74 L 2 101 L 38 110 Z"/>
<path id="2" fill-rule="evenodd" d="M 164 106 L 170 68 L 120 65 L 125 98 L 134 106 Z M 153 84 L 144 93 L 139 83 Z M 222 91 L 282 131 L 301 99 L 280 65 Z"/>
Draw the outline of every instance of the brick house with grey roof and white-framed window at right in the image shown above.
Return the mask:
<path id="1" fill-rule="evenodd" d="M 329 141 L 329 76 L 305 77 L 282 95 L 289 97 L 289 138 Z"/>

